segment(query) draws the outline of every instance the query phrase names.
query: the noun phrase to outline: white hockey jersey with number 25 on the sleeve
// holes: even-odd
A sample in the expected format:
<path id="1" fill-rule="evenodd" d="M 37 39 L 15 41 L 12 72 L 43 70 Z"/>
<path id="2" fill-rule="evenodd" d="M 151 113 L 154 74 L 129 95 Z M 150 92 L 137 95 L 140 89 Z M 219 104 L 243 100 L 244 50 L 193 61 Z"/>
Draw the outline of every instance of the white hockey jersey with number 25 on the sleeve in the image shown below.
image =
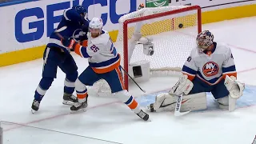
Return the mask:
<path id="1" fill-rule="evenodd" d="M 110 35 L 102 30 L 97 38 L 88 36 L 88 46 L 77 45 L 75 52 L 83 58 L 88 58 L 89 66 L 95 73 L 103 74 L 120 66 L 120 55 L 114 47 Z"/>

